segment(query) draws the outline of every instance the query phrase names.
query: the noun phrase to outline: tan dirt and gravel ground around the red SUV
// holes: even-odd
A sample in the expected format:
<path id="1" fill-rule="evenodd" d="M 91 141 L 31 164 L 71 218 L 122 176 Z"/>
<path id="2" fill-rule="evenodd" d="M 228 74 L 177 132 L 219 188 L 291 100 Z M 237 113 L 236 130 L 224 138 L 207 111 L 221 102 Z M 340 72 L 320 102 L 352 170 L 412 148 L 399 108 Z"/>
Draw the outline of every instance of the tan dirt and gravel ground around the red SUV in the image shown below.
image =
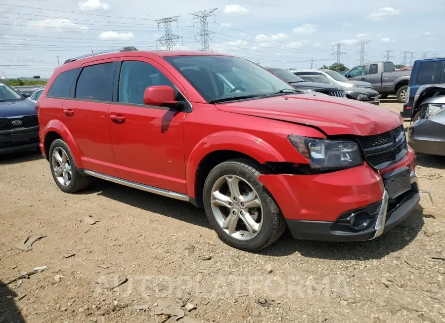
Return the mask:
<path id="1" fill-rule="evenodd" d="M 445 322 L 444 167 L 419 156 L 434 204 L 374 241 L 286 233 L 248 253 L 191 204 L 100 180 L 68 195 L 38 153 L 2 157 L 0 322 Z M 45 237 L 16 247 L 31 235 Z"/>

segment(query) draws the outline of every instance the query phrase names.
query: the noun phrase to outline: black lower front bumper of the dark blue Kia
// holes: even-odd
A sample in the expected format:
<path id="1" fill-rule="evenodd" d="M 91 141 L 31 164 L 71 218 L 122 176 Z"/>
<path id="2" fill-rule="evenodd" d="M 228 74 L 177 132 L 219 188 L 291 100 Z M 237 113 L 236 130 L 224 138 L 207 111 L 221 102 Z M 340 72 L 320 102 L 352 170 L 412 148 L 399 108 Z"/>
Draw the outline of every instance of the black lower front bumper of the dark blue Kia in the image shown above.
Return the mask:
<path id="1" fill-rule="evenodd" d="M 0 132 L 0 154 L 39 148 L 39 126 Z"/>

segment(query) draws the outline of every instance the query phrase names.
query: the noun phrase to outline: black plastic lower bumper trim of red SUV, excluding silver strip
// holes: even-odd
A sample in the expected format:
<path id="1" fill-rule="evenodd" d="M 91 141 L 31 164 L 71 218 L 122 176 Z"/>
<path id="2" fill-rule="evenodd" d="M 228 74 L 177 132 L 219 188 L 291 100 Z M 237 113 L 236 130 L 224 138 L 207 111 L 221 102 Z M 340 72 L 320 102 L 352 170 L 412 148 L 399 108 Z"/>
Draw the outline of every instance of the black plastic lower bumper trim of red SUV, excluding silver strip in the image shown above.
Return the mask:
<path id="1" fill-rule="evenodd" d="M 403 204 L 394 211 L 389 211 L 383 232 L 388 232 L 404 221 L 419 201 L 419 193 L 411 191 Z M 298 240 L 353 242 L 371 240 L 376 233 L 374 228 L 359 232 L 335 231 L 332 230 L 334 222 L 327 221 L 286 220 L 286 222 L 292 236 Z"/>

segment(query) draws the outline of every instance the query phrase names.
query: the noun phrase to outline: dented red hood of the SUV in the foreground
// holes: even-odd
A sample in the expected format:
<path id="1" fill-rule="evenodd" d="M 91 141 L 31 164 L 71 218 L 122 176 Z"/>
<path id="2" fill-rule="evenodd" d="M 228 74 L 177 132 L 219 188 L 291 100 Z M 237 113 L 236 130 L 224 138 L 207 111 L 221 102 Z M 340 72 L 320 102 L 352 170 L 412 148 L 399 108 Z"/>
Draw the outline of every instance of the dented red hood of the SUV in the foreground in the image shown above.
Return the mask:
<path id="1" fill-rule="evenodd" d="M 402 123 L 398 114 L 387 109 L 328 95 L 289 94 L 215 106 L 225 112 L 317 127 L 327 135 L 376 135 Z"/>

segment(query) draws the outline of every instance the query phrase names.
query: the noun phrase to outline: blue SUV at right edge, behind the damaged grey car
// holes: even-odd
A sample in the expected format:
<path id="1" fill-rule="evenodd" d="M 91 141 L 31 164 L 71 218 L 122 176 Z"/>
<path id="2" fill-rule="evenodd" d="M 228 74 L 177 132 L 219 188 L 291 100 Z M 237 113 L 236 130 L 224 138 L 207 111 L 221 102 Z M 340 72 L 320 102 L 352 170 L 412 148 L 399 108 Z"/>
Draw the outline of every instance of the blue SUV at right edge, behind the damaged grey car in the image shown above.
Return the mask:
<path id="1" fill-rule="evenodd" d="M 400 115 L 402 118 L 412 118 L 414 96 L 420 85 L 445 83 L 445 57 L 419 59 L 414 62 L 411 78 L 408 84 L 406 103 Z"/>

